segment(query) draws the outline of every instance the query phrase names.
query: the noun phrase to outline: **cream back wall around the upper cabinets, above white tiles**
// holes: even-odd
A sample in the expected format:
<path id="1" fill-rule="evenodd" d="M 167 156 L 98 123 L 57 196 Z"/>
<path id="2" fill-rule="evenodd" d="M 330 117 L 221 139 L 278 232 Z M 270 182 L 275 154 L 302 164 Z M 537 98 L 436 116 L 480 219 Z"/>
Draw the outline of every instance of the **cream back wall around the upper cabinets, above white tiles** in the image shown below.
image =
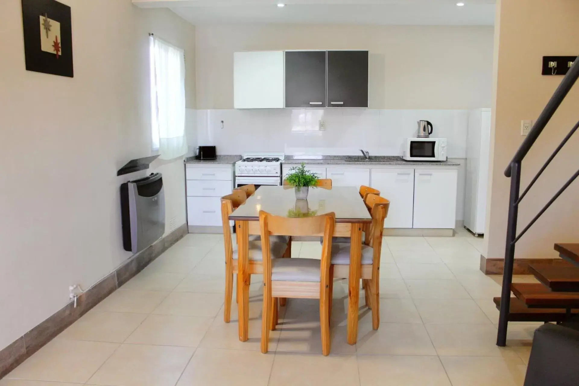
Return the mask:
<path id="1" fill-rule="evenodd" d="M 199 25 L 197 108 L 233 108 L 233 52 L 368 49 L 370 108 L 490 106 L 493 27 Z"/>

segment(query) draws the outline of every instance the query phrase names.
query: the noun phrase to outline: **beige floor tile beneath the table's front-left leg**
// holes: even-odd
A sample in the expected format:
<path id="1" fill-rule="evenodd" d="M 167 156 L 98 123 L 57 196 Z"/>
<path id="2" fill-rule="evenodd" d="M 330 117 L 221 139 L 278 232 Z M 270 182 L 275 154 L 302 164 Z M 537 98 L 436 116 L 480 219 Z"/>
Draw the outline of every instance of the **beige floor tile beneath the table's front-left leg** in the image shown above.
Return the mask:
<path id="1" fill-rule="evenodd" d="M 261 297 L 250 299 L 250 320 L 248 325 L 248 340 L 239 340 L 239 324 L 237 323 L 237 306 L 233 302 L 231 319 L 229 323 L 223 322 L 223 308 L 219 310 L 217 317 L 211 323 L 207 333 L 199 344 L 200 348 L 223 348 L 228 350 L 251 350 L 259 351 L 261 344 Z M 285 308 L 280 308 L 280 322 L 283 323 Z M 277 340 L 280 337 L 281 327 L 269 332 L 269 351 L 274 352 L 277 348 Z"/>

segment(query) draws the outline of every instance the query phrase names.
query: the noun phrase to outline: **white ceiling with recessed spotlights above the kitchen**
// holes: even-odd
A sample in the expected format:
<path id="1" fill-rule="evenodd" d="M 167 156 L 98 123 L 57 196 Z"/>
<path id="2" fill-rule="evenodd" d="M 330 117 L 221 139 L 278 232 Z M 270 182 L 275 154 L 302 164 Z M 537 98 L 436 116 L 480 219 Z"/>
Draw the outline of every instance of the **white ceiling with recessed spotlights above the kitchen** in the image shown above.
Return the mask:
<path id="1" fill-rule="evenodd" d="M 495 0 L 133 0 L 192 24 L 493 25 Z M 287 5 L 277 6 L 278 2 Z"/>

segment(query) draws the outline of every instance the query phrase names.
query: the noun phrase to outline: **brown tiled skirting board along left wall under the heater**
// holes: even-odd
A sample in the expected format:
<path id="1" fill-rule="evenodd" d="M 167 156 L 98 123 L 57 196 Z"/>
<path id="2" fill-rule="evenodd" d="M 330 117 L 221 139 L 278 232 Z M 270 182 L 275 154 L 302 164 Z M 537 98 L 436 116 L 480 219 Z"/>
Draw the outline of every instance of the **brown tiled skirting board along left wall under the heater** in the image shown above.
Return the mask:
<path id="1" fill-rule="evenodd" d="M 153 260 L 166 251 L 175 242 L 187 234 L 187 225 L 183 224 L 155 244 L 144 249 L 127 260 L 122 266 L 108 274 L 97 284 L 87 289 L 78 297 L 76 308 L 71 302 L 51 315 L 45 321 L 19 337 L 8 347 L 0 350 L 0 379 L 12 371 L 29 356 L 38 351 L 69 325 L 86 314 L 91 308 L 111 295 L 120 286 L 142 271 Z"/>

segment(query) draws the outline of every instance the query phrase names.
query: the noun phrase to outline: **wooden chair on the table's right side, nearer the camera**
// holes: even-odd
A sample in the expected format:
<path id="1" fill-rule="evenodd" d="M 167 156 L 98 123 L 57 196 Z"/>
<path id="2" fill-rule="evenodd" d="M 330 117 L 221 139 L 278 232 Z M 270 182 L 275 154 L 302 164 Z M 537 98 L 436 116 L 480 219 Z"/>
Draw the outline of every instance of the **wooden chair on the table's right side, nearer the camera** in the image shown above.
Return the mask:
<path id="1" fill-rule="evenodd" d="M 380 252 L 382 251 L 384 219 L 388 215 L 390 201 L 376 194 L 368 194 L 365 203 L 371 208 L 372 225 L 366 233 L 365 245 L 362 245 L 361 278 L 366 304 L 372 310 L 372 328 L 378 330 L 380 325 Z M 330 288 L 332 290 L 335 277 L 347 278 L 349 275 L 349 242 L 335 242 L 332 244 L 331 264 Z M 330 300 L 330 310 L 331 307 Z"/>

